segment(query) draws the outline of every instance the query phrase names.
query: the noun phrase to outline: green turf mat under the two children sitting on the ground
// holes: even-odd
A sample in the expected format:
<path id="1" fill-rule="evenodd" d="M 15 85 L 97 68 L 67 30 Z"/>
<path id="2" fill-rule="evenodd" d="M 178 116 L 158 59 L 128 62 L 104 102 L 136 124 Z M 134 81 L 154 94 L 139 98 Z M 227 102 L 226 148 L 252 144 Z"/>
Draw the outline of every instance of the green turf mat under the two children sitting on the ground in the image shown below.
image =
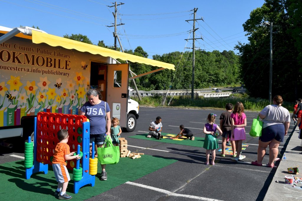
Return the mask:
<path id="1" fill-rule="evenodd" d="M 163 136 L 168 135 L 170 133 L 162 133 Z M 130 136 L 131 138 L 141 139 L 141 140 L 152 140 L 156 142 L 163 142 L 163 143 L 171 143 L 171 144 L 181 144 L 187 146 L 196 146 L 196 147 L 203 147 L 204 146 L 204 137 L 195 137 L 195 140 L 171 140 L 171 139 L 160 139 L 157 140 L 153 137 L 148 138 L 148 134 L 136 134 L 134 136 Z"/>

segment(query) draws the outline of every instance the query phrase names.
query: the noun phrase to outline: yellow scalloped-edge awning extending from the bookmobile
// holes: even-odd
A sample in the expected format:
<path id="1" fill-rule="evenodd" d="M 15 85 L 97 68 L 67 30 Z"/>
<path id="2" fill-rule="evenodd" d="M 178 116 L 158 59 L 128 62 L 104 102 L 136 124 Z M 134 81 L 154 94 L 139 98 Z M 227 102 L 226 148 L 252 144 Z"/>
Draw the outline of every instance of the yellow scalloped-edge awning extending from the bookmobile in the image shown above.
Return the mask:
<path id="1" fill-rule="evenodd" d="M 128 60 L 132 62 L 137 62 L 140 64 L 147 64 L 151 66 L 157 66 L 161 68 L 167 68 L 175 70 L 175 66 L 173 64 L 164 63 L 161 61 L 156 61 L 153 59 L 148 59 L 136 55 L 130 55 L 124 52 L 118 52 L 112 49 L 107 49 L 95 45 L 90 45 L 84 42 L 79 42 L 76 40 L 71 40 L 67 38 L 62 38 L 59 36 L 54 36 L 48 33 L 41 33 L 38 31 L 32 31 L 32 41 L 36 44 L 46 43 L 50 46 L 56 47 L 61 46 L 66 49 L 76 49 L 80 52 L 89 52 L 94 55 L 101 55 L 104 57 L 112 57 L 114 59 Z"/>

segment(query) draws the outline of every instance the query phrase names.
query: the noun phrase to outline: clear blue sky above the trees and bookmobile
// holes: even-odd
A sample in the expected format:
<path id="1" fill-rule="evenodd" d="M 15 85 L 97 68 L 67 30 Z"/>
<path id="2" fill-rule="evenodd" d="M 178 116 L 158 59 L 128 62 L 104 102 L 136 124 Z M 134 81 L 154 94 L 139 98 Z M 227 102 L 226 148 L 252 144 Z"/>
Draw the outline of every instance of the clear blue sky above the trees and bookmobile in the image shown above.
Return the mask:
<path id="1" fill-rule="evenodd" d="M 192 47 L 187 43 L 193 21 L 193 10 L 198 8 L 195 28 L 199 28 L 196 47 L 206 51 L 233 50 L 238 41 L 248 42 L 242 24 L 249 19 L 250 12 L 261 7 L 264 0 L 215 0 L 215 1 L 122 1 L 118 6 L 117 32 L 124 49 L 142 46 L 152 55 L 179 51 Z M 114 3 L 114 2 L 113 2 Z M 119 2 L 118 2 L 119 3 Z M 114 45 L 114 5 L 107 0 L 0 0 L 1 26 L 38 26 L 47 33 L 63 36 L 81 33 L 93 43 L 104 40 L 106 45 Z M 118 42 L 117 42 L 118 43 Z M 191 51 L 190 49 L 185 49 Z M 237 51 L 234 51 L 237 53 Z"/>

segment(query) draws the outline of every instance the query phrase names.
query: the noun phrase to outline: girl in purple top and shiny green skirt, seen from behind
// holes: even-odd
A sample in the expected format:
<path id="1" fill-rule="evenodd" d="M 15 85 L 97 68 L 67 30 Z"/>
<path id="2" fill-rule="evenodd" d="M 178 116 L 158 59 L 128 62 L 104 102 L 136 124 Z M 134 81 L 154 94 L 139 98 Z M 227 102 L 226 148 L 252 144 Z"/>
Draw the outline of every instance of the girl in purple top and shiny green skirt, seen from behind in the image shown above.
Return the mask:
<path id="1" fill-rule="evenodd" d="M 218 141 L 217 137 L 221 136 L 222 131 L 220 130 L 219 126 L 215 123 L 215 114 L 211 113 L 207 117 L 207 124 L 204 126 L 204 133 L 206 137 L 204 139 L 204 149 L 206 149 L 206 165 L 209 165 L 209 158 L 210 152 L 212 152 L 212 161 L 211 165 L 215 165 L 215 156 L 216 156 L 216 149 L 218 148 Z M 216 135 L 216 130 L 220 133 L 220 135 Z M 218 134 L 218 133 L 217 133 Z"/>

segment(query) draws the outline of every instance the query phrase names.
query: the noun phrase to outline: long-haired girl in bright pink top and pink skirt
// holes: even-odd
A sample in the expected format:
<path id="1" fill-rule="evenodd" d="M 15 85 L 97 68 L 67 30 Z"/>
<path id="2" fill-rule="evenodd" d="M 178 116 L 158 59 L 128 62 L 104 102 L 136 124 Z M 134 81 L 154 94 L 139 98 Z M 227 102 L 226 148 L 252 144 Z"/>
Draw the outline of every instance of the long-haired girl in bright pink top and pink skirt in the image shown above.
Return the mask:
<path id="1" fill-rule="evenodd" d="M 242 102 L 237 102 L 234 111 L 231 114 L 232 121 L 232 135 L 231 135 L 231 143 L 236 147 L 237 155 L 233 155 L 231 160 L 234 162 L 238 162 L 238 160 L 242 160 L 245 158 L 244 155 L 240 155 L 242 149 L 242 141 L 246 140 L 244 127 L 246 126 L 246 115 L 244 114 L 244 107 Z M 235 153 L 233 153 L 235 154 Z"/>

